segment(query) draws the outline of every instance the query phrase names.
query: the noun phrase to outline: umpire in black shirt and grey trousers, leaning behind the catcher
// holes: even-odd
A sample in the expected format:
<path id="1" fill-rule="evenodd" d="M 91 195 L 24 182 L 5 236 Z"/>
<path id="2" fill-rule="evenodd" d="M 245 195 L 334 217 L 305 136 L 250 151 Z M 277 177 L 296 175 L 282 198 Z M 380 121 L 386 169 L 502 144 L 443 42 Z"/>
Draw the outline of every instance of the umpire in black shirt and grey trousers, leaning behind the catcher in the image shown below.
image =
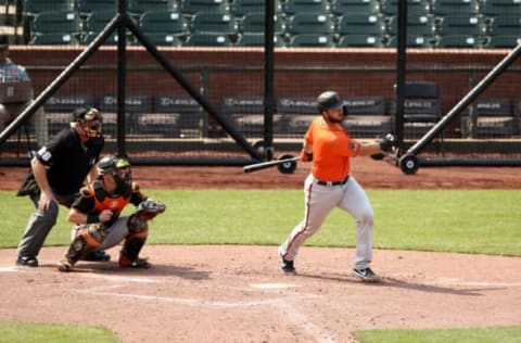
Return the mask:
<path id="1" fill-rule="evenodd" d="M 56 224 L 59 204 L 71 207 L 84 182 L 94 180 L 103 149 L 102 115 L 93 107 L 74 111 L 71 127 L 63 129 L 33 157 L 31 169 L 17 195 L 29 195 L 37 212 L 27 223 L 18 244 L 16 265 L 37 267 L 38 253 Z M 109 261 L 104 252 L 89 261 Z"/>

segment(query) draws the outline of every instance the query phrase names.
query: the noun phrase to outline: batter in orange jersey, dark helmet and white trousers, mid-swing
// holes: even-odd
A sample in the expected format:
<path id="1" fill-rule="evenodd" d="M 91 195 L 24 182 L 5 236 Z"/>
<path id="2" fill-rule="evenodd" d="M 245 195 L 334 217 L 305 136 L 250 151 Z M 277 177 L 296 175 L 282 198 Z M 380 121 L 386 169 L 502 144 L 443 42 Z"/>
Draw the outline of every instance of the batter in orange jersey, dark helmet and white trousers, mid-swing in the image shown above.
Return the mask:
<path id="1" fill-rule="evenodd" d="M 389 150 L 394 140 L 361 143 L 351 139 L 341 126 L 346 103 L 335 91 L 318 97 L 320 117 L 315 118 L 305 135 L 301 152 L 303 162 L 312 162 L 312 173 L 304 182 L 305 213 L 279 247 L 281 269 L 296 274 L 294 261 L 298 249 L 316 233 L 332 209 L 339 207 L 356 220 L 356 253 L 353 274 L 363 281 L 379 281 L 372 261 L 373 211 L 366 192 L 350 175 L 350 160 Z"/>

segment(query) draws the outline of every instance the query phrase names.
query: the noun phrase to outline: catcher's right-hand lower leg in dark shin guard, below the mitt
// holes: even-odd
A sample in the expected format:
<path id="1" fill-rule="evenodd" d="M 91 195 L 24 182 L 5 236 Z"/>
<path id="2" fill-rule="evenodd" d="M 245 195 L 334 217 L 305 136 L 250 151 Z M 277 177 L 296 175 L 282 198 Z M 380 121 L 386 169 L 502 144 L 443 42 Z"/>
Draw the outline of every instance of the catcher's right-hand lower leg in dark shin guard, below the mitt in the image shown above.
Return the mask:
<path id="1" fill-rule="evenodd" d="M 125 238 L 123 250 L 119 254 L 119 266 L 132 268 L 150 268 L 148 258 L 140 258 L 139 252 L 149 236 L 147 220 L 137 215 L 131 215 L 127 223 L 128 234 Z"/>

